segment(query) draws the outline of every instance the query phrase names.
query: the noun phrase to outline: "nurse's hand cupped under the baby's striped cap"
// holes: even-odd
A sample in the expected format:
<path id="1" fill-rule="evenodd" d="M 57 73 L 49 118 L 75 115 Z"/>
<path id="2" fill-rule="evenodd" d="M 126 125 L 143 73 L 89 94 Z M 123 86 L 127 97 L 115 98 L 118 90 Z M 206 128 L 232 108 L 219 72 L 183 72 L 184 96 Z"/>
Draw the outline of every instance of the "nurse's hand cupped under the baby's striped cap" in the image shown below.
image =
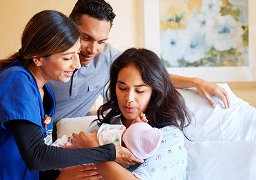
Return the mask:
<path id="1" fill-rule="evenodd" d="M 116 163 L 124 168 L 128 168 L 136 163 L 143 163 L 143 160 L 136 158 L 131 151 L 125 147 L 116 147 Z"/>

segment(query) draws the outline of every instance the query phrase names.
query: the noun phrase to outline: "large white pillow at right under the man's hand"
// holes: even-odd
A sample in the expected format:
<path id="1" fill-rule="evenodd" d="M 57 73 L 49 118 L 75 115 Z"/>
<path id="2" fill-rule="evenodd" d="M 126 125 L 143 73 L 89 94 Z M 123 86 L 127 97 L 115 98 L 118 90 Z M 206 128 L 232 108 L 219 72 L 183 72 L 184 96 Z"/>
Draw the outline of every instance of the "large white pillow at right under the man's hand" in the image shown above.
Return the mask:
<path id="1" fill-rule="evenodd" d="M 216 108 L 212 108 L 195 88 L 178 90 L 195 116 L 192 124 L 185 128 L 186 135 L 196 141 L 256 139 L 255 108 L 236 97 L 226 83 L 217 85 L 229 94 L 230 108 L 224 108 L 224 103 L 216 96 L 212 96 L 216 102 Z"/>

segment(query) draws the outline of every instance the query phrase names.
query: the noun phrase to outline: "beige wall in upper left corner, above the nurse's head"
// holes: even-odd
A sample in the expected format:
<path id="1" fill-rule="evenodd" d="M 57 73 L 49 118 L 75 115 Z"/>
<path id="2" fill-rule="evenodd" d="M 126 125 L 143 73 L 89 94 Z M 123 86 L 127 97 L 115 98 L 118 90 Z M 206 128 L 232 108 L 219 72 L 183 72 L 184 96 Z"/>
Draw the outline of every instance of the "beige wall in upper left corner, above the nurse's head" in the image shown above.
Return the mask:
<path id="1" fill-rule="evenodd" d="M 0 1 L 0 58 L 20 48 L 20 36 L 29 19 L 40 10 L 54 9 L 69 15 L 76 0 Z"/>

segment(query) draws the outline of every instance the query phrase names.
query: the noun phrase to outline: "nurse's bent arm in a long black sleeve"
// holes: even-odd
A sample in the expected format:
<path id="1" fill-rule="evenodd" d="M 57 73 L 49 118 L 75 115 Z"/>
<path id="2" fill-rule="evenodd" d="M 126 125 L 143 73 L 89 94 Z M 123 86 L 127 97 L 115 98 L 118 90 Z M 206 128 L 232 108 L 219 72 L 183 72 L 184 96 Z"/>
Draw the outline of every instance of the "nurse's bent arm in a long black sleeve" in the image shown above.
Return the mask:
<path id="1" fill-rule="evenodd" d="M 115 146 L 91 149 L 67 149 L 47 146 L 43 142 L 40 126 L 29 121 L 10 121 L 6 125 L 12 131 L 20 154 L 31 171 L 51 170 L 72 165 L 113 161 L 116 158 Z"/>

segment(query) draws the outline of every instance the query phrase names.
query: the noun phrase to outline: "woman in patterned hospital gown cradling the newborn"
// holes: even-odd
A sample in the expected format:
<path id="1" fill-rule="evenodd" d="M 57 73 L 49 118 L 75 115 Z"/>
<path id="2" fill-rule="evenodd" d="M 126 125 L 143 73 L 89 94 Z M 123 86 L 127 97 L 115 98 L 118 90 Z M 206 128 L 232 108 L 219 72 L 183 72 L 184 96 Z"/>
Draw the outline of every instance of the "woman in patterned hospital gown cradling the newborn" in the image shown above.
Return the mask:
<path id="1" fill-rule="evenodd" d="M 102 123 L 128 128 L 141 112 L 159 128 L 163 139 L 153 156 L 132 173 L 115 162 L 96 163 L 104 179 L 186 179 L 187 153 L 183 129 L 191 121 L 184 99 L 175 90 L 165 66 L 154 52 L 130 48 L 113 62 L 108 101 L 98 110 Z M 106 114 L 107 112 L 107 114 Z M 92 136 L 96 132 L 93 131 Z M 82 133 L 76 138 L 83 138 Z M 88 136 L 88 135 L 86 135 Z M 88 146 L 95 142 L 88 142 Z"/>

